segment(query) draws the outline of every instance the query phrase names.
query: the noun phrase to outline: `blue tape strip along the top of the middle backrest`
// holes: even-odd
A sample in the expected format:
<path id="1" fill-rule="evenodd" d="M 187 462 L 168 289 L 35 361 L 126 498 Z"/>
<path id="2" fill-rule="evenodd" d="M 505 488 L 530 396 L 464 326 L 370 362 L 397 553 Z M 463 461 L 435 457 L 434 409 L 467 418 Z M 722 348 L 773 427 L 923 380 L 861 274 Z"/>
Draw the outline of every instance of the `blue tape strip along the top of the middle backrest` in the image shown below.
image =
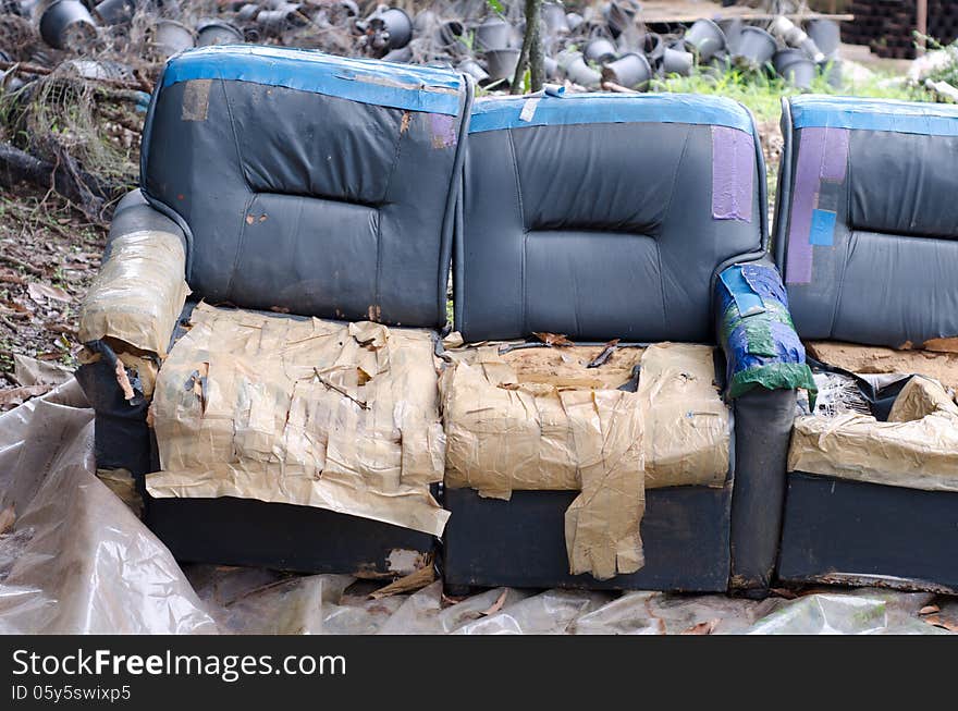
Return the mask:
<path id="1" fill-rule="evenodd" d="M 753 135 L 752 120 L 739 103 L 720 96 L 690 94 L 575 94 L 543 96 L 529 121 L 519 119 L 528 97 L 472 102 L 469 133 L 582 123 L 690 123 L 727 126 Z"/>

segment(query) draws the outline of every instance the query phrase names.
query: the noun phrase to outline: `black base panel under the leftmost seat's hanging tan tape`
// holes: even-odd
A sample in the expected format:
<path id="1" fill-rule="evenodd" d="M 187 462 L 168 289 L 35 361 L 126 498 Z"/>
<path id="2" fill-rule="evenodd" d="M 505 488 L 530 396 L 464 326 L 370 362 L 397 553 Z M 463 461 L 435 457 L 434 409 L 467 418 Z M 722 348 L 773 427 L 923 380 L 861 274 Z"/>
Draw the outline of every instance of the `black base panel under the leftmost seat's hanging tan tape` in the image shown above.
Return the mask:
<path id="1" fill-rule="evenodd" d="M 148 499 L 146 523 L 180 562 L 397 577 L 433 551 L 428 534 L 314 506 L 250 499 Z"/>

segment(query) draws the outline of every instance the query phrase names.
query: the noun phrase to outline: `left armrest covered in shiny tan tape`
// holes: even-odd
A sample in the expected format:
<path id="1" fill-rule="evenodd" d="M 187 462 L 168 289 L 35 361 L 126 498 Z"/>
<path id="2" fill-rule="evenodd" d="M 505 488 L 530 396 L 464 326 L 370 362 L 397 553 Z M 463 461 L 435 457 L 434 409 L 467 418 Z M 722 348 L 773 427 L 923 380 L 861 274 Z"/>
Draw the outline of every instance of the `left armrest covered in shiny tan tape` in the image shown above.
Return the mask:
<path id="1" fill-rule="evenodd" d="M 81 307 L 81 341 L 113 339 L 165 356 L 189 294 L 185 273 L 183 231 L 131 193 L 116 209 L 105 261 Z"/>

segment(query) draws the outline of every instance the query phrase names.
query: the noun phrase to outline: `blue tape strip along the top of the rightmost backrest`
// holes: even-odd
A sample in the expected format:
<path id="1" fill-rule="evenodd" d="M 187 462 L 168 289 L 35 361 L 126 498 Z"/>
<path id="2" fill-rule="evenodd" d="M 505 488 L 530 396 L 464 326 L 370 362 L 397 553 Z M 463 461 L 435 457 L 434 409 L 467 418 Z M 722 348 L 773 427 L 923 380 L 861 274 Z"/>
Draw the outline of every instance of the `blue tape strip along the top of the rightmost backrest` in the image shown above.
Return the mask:
<path id="1" fill-rule="evenodd" d="M 857 128 L 929 136 L 958 136 L 958 106 L 843 96 L 791 99 L 796 128 Z"/>

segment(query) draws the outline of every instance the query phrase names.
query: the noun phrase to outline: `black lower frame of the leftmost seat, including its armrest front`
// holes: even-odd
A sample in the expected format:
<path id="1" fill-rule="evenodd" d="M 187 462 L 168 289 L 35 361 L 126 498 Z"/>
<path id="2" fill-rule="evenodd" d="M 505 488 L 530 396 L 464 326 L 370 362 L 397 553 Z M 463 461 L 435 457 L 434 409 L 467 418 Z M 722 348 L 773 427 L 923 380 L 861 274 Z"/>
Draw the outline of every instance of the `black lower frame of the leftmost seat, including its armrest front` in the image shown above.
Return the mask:
<path id="1" fill-rule="evenodd" d="M 143 475 L 159 469 L 159 461 L 146 425 L 147 403 L 123 400 L 103 360 L 82 366 L 76 378 L 97 410 L 97 466 L 123 467 L 136 477 L 147 526 L 180 562 L 388 578 L 412 573 L 435 548 L 428 534 L 314 506 L 152 499 Z"/>

